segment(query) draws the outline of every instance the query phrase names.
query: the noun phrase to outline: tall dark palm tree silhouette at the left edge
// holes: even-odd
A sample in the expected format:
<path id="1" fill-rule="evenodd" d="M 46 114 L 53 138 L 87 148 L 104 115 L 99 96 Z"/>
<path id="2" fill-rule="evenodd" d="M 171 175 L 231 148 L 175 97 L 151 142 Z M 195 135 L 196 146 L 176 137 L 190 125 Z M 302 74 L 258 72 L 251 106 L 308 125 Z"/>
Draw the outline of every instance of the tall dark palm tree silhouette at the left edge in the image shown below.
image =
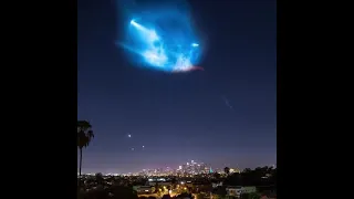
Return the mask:
<path id="1" fill-rule="evenodd" d="M 94 134 L 91 124 L 87 121 L 77 121 L 77 148 L 80 149 L 79 177 L 81 177 L 82 149 L 88 146 L 93 137 Z"/>

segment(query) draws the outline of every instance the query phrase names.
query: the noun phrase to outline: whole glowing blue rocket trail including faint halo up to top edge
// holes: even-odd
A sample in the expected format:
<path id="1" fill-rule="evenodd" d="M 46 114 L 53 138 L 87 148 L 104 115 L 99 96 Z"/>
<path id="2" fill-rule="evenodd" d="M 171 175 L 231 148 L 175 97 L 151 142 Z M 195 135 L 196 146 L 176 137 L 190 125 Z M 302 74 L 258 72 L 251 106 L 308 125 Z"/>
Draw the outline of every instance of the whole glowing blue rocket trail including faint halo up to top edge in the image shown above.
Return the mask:
<path id="1" fill-rule="evenodd" d="M 126 38 L 118 41 L 127 57 L 136 65 L 168 73 L 204 71 L 200 61 L 202 43 L 192 29 L 187 1 L 177 8 L 171 3 L 138 4 L 121 0 L 128 21 Z M 129 3 L 126 3 L 129 2 Z"/>

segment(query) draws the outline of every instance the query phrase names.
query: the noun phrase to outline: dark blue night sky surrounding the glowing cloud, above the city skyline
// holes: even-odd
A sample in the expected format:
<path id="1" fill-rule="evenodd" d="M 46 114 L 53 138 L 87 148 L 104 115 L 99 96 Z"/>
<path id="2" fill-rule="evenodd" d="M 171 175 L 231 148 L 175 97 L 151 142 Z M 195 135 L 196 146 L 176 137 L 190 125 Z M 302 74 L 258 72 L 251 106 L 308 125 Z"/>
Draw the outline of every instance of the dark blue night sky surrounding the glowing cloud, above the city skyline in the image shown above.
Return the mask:
<path id="1" fill-rule="evenodd" d="M 275 0 L 190 6 L 207 41 L 205 71 L 166 74 L 135 67 L 115 45 L 122 20 L 113 1 L 77 1 L 77 118 L 95 133 L 84 172 L 191 159 L 214 168 L 277 164 Z"/>

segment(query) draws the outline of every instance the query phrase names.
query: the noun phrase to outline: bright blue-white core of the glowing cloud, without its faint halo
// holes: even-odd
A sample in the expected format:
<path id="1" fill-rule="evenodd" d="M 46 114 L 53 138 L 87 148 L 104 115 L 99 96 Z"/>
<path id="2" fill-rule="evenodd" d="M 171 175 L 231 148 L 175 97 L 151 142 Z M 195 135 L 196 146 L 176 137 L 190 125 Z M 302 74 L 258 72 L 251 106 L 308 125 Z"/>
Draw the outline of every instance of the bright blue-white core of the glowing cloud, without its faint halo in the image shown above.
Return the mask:
<path id="1" fill-rule="evenodd" d="M 129 35 L 135 41 L 132 44 L 119 43 L 121 46 L 139 54 L 147 66 L 167 72 L 192 71 L 200 50 L 196 48 L 198 43 L 186 43 L 192 40 L 189 31 L 180 36 L 174 29 L 156 29 L 154 23 L 145 25 L 136 20 L 129 23 Z"/>

